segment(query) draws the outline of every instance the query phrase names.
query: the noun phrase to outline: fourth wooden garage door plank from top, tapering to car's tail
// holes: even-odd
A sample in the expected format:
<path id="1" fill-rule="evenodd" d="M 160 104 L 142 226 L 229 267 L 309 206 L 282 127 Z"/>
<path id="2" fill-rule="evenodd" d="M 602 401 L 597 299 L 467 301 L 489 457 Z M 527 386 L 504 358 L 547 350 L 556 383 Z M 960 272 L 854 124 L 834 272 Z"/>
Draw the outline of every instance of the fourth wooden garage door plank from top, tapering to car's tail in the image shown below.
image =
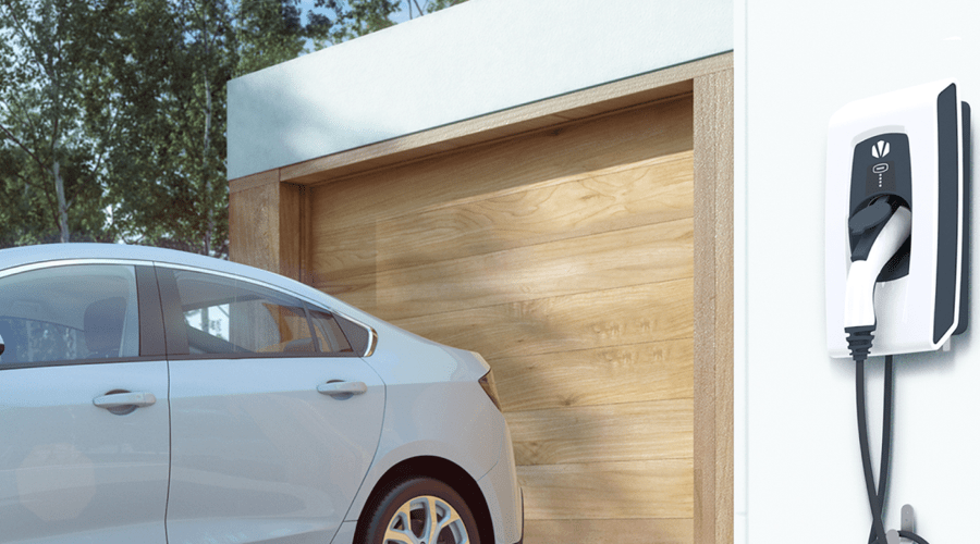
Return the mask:
<path id="1" fill-rule="evenodd" d="M 690 279 L 395 320 L 487 358 L 611 348 L 693 335 Z"/>

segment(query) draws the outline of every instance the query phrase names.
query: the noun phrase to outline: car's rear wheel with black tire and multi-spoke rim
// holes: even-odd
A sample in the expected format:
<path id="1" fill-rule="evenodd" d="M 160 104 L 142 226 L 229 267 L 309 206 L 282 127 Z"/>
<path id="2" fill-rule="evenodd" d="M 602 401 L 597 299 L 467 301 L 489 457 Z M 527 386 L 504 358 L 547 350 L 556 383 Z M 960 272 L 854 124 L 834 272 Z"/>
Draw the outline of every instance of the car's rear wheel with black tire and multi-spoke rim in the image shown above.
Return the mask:
<path id="1" fill-rule="evenodd" d="M 431 478 L 402 481 L 378 502 L 365 544 L 479 544 L 476 518 L 463 497 Z"/>

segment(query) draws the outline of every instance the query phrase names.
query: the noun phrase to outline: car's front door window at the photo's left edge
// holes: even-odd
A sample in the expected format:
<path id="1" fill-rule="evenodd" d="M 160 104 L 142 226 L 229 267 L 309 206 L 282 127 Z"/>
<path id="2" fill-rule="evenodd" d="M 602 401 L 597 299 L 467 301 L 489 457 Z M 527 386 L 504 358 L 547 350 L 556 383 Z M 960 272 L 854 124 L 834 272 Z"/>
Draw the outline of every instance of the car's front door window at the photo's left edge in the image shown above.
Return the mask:
<path id="1" fill-rule="evenodd" d="M 136 272 L 127 265 L 52 267 L 2 277 L 0 366 L 137 357 L 136 300 Z"/>

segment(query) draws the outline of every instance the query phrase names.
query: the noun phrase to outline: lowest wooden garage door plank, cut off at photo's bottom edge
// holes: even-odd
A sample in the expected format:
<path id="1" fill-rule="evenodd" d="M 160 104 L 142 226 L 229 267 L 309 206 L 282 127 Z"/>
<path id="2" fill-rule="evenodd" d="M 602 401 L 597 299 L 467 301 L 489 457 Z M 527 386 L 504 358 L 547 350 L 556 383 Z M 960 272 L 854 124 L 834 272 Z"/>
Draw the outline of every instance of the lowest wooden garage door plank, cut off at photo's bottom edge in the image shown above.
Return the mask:
<path id="1" fill-rule="evenodd" d="M 691 518 L 531 519 L 524 544 L 693 544 Z"/>

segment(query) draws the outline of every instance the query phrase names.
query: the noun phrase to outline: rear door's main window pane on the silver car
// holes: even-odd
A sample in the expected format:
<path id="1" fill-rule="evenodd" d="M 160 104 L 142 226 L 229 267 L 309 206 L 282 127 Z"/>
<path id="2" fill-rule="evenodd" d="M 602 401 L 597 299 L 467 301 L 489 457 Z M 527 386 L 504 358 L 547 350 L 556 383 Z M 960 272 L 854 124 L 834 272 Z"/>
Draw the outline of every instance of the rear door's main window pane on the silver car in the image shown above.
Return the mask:
<path id="1" fill-rule="evenodd" d="M 192 355 L 315 354 L 303 302 L 231 277 L 174 270 Z"/>

